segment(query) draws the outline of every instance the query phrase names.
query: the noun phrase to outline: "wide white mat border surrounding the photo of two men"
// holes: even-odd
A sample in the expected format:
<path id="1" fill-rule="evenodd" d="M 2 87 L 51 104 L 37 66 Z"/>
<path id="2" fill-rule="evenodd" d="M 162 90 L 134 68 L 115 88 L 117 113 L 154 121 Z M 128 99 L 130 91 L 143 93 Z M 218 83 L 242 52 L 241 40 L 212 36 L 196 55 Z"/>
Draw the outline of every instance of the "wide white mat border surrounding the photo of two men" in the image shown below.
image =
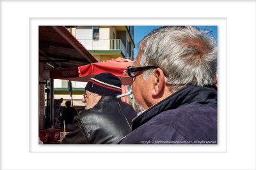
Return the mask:
<path id="1" fill-rule="evenodd" d="M 1 1 L 0 168 L 255 169 L 255 8 L 255 1 Z M 39 145 L 40 25 L 218 26 L 218 145 Z"/>

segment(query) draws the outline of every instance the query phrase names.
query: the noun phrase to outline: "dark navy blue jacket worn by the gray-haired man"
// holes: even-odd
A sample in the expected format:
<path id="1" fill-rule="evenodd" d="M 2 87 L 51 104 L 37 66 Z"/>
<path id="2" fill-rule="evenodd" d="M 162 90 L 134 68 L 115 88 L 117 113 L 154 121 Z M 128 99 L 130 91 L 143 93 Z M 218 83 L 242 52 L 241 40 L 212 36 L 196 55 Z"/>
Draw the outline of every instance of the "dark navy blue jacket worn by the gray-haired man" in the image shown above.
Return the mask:
<path id="1" fill-rule="evenodd" d="M 189 85 L 132 120 L 121 144 L 217 144 L 217 89 Z"/>

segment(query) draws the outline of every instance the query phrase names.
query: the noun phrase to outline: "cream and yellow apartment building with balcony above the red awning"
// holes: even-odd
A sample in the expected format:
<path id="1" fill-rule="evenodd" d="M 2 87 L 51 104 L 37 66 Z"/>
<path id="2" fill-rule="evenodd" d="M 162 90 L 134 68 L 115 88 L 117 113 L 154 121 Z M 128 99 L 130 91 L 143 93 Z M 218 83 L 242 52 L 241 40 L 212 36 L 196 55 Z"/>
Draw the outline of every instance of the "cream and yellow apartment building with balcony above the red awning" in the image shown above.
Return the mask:
<path id="1" fill-rule="evenodd" d="M 103 60 L 134 60 L 134 26 L 67 26 L 80 43 L 99 62 Z"/>

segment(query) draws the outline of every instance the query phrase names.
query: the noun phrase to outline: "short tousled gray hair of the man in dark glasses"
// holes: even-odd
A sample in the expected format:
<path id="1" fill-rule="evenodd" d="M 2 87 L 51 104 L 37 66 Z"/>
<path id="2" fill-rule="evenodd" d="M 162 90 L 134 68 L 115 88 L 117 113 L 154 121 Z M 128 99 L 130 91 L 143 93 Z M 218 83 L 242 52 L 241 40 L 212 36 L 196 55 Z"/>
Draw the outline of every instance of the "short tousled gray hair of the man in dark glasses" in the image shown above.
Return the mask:
<path id="1" fill-rule="evenodd" d="M 216 84 L 216 55 L 211 32 L 192 26 L 169 26 L 154 29 L 139 44 L 140 65 L 158 66 L 167 75 L 170 90 L 187 85 Z M 155 69 L 143 72 L 144 80 Z"/>

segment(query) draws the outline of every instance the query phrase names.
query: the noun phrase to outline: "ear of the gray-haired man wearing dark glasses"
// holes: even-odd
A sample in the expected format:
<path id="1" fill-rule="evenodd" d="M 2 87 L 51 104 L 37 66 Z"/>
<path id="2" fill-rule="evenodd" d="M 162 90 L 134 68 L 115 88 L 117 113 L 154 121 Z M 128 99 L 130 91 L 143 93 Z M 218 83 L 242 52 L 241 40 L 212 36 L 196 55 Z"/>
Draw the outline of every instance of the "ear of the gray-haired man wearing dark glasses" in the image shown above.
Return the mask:
<path id="1" fill-rule="evenodd" d="M 163 94 L 165 78 L 161 69 L 156 69 L 152 83 L 152 96 L 156 97 L 159 96 L 159 94 Z"/>

